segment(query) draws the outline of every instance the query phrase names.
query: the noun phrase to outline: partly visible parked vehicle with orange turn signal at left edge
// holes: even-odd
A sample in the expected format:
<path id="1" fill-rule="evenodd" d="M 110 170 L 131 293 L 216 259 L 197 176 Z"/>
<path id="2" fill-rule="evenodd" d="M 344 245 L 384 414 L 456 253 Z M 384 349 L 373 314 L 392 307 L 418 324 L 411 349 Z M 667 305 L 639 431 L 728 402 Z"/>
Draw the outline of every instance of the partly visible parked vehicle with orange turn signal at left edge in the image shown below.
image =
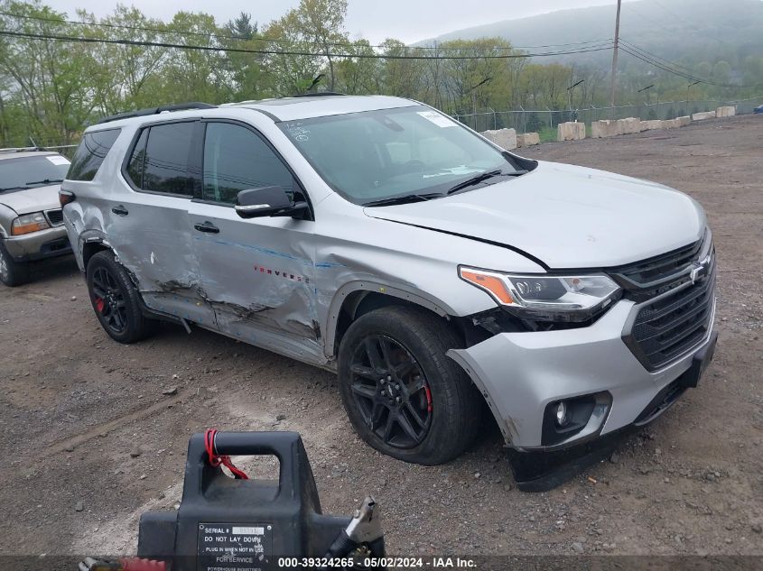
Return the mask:
<path id="1" fill-rule="evenodd" d="M 29 262 L 71 253 L 59 204 L 69 160 L 58 152 L 0 150 L 0 281 L 29 279 Z"/>

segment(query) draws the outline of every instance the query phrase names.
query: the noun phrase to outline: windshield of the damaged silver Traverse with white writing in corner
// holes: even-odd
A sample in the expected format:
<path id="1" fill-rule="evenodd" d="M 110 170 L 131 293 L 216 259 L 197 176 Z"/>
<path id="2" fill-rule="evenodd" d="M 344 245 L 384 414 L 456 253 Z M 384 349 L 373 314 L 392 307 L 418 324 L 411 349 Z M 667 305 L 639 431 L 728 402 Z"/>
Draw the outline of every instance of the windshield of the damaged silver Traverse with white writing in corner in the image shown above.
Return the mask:
<path id="1" fill-rule="evenodd" d="M 483 173 L 519 174 L 506 154 L 426 106 L 280 126 L 323 180 L 356 204 L 411 195 L 437 198 Z M 500 180 L 488 179 L 475 184 Z"/>

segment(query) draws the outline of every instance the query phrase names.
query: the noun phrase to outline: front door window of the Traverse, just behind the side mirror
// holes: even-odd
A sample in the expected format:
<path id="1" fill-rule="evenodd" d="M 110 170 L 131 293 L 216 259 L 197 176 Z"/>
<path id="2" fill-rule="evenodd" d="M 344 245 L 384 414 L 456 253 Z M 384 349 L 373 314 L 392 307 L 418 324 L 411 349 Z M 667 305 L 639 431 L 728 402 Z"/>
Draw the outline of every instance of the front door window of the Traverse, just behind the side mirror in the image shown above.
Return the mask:
<path id="1" fill-rule="evenodd" d="M 234 204 L 239 191 L 279 186 L 294 190 L 292 173 L 244 126 L 209 123 L 204 137 L 203 198 Z"/>

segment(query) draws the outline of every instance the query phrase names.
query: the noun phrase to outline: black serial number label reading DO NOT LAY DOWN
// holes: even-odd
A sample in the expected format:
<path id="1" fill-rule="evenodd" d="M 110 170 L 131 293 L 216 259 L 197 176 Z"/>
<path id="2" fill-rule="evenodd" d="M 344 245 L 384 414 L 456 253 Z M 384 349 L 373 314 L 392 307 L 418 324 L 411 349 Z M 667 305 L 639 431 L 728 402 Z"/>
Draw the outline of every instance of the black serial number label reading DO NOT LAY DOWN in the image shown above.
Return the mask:
<path id="1" fill-rule="evenodd" d="M 200 523 L 198 571 L 262 571 L 273 551 L 269 523 Z"/>

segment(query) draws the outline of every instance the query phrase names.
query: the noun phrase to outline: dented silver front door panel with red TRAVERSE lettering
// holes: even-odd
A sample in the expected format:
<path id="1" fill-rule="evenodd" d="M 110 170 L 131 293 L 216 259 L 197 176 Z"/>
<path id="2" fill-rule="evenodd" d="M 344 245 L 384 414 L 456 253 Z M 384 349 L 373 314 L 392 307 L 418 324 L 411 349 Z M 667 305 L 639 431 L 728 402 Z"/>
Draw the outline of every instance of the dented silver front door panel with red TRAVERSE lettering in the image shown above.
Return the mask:
<path id="1" fill-rule="evenodd" d="M 216 328 L 254 345 L 325 362 L 318 326 L 313 266 L 313 222 L 288 217 L 244 220 L 232 207 L 191 203 L 200 295 Z"/>

